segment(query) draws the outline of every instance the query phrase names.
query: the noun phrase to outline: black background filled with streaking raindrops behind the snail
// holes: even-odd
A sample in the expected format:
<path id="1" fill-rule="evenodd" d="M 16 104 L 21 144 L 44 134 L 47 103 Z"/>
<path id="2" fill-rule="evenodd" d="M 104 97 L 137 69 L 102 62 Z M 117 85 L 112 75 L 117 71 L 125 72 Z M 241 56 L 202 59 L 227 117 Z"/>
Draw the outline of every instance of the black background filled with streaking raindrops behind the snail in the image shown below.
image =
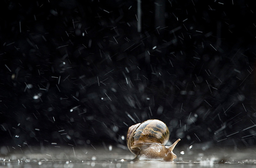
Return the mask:
<path id="1" fill-rule="evenodd" d="M 170 141 L 255 141 L 253 1 L 4 0 L 0 142 L 125 148 L 160 119 Z M 138 32 L 141 11 L 141 32 Z"/>

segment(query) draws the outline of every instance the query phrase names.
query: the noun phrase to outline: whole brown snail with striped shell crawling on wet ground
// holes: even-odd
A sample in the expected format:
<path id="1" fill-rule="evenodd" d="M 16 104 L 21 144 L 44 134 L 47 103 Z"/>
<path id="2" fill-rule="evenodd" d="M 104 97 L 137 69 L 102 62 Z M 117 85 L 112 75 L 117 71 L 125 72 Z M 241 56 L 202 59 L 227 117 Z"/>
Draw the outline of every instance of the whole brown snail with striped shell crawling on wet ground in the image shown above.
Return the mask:
<path id="1" fill-rule="evenodd" d="M 173 161 L 172 152 L 180 139 L 171 146 L 164 146 L 169 140 L 169 129 L 160 120 L 146 120 L 132 125 L 127 132 L 127 146 L 136 155 L 135 160 Z"/>

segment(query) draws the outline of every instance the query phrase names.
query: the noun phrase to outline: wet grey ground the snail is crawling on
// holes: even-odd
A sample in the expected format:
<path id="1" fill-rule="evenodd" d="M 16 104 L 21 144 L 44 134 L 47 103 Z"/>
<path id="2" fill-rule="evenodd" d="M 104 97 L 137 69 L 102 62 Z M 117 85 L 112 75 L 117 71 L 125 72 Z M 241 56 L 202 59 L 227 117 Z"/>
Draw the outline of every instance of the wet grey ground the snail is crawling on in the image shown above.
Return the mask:
<path id="1" fill-rule="evenodd" d="M 256 148 L 175 148 L 175 162 L 132 161 L 134 156 L 125 146 L 15 148 L 0 157 L 0 168 L 132 168 L 132 167 L 219 167 L 256 168 Z M 7 150 L 6 150 L 7 149 Z M 9 148 L 10 149 L 10 148 Z"/>

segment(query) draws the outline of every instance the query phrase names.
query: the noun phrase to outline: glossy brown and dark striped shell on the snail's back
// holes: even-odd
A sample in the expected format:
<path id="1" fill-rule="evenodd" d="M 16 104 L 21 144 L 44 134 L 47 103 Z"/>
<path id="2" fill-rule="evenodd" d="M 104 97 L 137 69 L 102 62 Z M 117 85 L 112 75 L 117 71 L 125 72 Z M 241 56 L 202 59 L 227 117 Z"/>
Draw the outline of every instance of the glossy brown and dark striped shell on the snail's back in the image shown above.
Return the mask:
<path id="1" fill-rule="evenodd" d="M 141 148 L 150 144 L 165 145 L 169 140 L 169 129 L 160 120 L 146 120 L 132 125 L 127 133 L 127 146 L 129 150 L 138 154 Z"/>

